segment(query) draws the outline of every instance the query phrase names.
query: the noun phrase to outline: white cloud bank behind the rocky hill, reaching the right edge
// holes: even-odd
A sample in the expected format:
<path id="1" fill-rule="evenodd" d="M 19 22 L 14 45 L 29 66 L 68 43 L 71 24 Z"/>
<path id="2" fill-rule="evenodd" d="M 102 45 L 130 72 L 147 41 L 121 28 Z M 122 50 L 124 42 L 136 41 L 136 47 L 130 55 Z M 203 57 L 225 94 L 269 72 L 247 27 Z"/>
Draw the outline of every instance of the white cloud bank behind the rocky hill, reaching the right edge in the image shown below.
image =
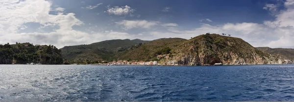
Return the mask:
<path id="1" fill-rule="evenodd" d="M 267 8 L 267 10 L 276 11 L 274 20 L 266 20 L 264 23 L 225 23 L 217 26 L 202 23 L 201 27 L 192 30 L 179 30 L 169 28 L 169 32 L 150 32 L 154 38 L 179 37 L 189 39 L 200 34 L 217 33 L 230 34 L 232 37 L 242 38 L 251 45 L 294 48 L 294 0 L 284 2 L 284 10 Z M 268 4 L 266 7 L 272 7 Z"/>

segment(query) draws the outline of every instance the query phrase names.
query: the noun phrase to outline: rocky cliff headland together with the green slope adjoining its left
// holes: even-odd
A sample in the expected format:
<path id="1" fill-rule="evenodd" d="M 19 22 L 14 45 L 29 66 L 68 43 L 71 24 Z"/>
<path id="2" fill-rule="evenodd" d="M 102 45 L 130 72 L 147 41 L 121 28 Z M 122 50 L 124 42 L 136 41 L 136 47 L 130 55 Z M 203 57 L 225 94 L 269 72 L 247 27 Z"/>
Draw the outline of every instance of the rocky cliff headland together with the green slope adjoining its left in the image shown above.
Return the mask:
<path id="1" fill-rule="evenodd" d="M 158 39 L 130 47 L 115 58 L 128 61 L 158 61 L 162 65 L 282 64 L 293 63 L 257 50 L 246 41 L 219 34 L 205 34 L 190 40 Z"/>

